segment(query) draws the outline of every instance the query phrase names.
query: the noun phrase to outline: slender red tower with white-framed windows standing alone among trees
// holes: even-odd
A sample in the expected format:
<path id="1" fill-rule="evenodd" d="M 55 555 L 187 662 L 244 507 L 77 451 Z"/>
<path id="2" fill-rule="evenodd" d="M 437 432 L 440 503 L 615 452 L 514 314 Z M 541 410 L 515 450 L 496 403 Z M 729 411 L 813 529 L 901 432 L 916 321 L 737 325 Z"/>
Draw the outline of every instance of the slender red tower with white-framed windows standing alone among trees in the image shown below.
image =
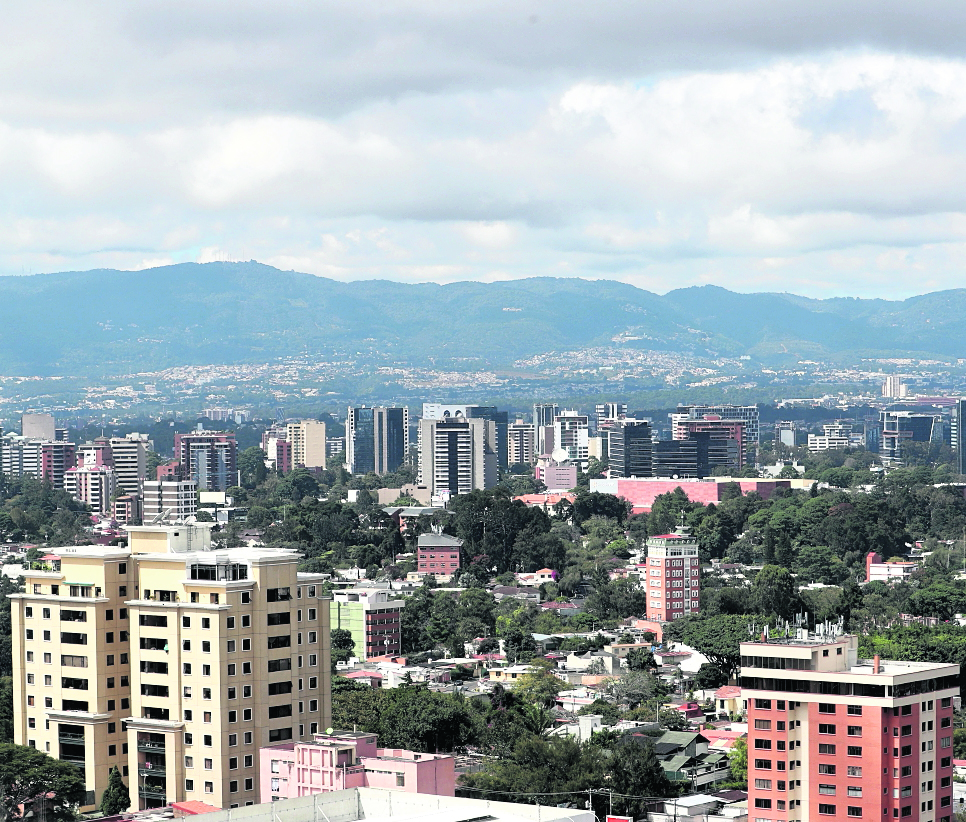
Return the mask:
<path id="1" fill-rule="evenodd" d="M 647 539 L 647 616 L 670 622 L 700 610 L 698 541 L 681 525 Z"/>

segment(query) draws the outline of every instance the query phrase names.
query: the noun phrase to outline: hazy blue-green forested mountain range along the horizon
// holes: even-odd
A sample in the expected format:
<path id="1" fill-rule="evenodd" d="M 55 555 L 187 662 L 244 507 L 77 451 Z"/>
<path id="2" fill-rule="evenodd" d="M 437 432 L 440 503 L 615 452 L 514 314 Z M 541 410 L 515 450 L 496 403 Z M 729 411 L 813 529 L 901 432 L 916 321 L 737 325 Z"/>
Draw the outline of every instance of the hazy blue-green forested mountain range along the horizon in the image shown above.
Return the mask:
<path id="1" fill-rule="evenodd" d="M 715 286 L 664 296 L 610 281 L 342 283 L 256 262 L 0 277 L 0 373 L 120 373 L 379 350 L 499 368 L 622 345 L 761 362 L 966 357 L 966 290 L 812 300 Z"/>

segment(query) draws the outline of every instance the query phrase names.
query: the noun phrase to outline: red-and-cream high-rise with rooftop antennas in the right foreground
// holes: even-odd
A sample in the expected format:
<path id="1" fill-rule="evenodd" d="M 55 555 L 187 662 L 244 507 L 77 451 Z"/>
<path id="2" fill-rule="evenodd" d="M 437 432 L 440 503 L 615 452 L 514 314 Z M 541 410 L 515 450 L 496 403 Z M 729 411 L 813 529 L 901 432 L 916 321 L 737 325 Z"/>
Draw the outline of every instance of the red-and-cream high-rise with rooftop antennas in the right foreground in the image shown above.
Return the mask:
<path id="1" fill-rule="evenodd" d="M 834 630 L 741 643 L 750 817 L 951 822 L 959 666 L 857 649 Z"/>

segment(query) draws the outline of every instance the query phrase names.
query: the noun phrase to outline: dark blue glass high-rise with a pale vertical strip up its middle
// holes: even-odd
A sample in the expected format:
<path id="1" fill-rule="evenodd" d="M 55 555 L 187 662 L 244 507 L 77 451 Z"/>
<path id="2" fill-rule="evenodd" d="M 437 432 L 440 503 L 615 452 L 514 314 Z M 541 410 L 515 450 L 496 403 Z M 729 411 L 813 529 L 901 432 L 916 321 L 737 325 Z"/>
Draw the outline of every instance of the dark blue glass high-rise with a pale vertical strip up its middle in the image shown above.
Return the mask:
<path id="1" fill-rule="evenodd" d="M 345 426 L 346 464 L 352 474 L 388 474 L 409 452 L 408 408 L 349 408 Z"/>

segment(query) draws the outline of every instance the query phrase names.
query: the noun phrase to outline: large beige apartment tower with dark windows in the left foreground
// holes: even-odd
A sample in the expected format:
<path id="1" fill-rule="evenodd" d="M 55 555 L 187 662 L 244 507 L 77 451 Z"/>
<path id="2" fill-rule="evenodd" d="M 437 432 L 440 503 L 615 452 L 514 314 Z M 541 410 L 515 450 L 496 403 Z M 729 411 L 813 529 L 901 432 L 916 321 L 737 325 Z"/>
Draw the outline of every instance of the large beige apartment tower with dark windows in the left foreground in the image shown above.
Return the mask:
<path id="1" fill-rule="evenodd" d="M 74 763 L 93 810 L 258 801 L 258 749 L 331 723 L 329 601 L 298 555 L 215 549 L 210 525 L 56 549 L 12 600 L 14 740 Z"/>

